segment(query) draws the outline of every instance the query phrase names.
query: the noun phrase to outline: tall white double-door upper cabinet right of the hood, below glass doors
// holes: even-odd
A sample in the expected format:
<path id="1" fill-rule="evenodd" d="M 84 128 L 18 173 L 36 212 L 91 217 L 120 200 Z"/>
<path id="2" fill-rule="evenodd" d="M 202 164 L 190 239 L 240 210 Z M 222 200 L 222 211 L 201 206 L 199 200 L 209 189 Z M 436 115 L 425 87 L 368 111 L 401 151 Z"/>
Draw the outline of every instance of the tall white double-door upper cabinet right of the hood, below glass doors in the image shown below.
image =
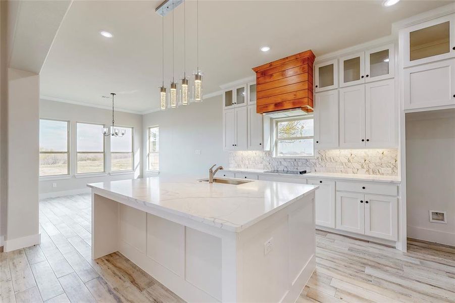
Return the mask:
<path id="1" fill-rule="evenodd" d="M 340 147 L 397 146 L 393 79 L 340 89 Z"/>

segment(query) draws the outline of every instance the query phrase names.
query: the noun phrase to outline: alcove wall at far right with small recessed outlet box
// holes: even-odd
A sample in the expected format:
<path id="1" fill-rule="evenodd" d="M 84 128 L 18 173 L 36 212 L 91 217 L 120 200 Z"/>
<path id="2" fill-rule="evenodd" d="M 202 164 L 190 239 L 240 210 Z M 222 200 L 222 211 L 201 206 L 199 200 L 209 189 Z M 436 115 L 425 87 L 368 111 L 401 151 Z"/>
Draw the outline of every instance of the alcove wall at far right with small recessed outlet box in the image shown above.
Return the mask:
<path id="1" fill-rule="evenodd" d="M 408 237 L 455 245 L 455 110 L 407 114 L 406 175 Z"/>

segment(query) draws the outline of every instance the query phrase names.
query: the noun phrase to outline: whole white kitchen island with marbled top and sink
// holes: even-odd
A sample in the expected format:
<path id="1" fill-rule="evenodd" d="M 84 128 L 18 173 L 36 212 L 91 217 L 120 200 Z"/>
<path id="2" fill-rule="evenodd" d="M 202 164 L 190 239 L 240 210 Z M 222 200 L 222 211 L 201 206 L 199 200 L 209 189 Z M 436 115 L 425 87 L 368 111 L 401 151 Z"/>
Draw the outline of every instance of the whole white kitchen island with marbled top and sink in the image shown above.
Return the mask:
<path id="1" fill-rule="evenodd" d="M 92 258 L 119 251 L 189 302 L 294 302 L 316 266 L 318 186 L 232 180 L 88 184 Z"/>

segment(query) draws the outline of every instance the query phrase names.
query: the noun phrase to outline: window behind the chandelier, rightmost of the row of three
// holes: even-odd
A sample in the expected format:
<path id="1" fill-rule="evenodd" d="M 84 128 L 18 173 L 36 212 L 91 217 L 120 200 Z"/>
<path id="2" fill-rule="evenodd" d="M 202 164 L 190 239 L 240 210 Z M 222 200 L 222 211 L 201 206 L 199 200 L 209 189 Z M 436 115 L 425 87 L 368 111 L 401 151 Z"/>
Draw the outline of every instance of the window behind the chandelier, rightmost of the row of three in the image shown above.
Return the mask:
<path id="1" fill-rule="evenodd" d="M 133 128 L 116 128 L 124 129 L 125 135 L 111 136 L 111 171 L 133 170 Z"/>

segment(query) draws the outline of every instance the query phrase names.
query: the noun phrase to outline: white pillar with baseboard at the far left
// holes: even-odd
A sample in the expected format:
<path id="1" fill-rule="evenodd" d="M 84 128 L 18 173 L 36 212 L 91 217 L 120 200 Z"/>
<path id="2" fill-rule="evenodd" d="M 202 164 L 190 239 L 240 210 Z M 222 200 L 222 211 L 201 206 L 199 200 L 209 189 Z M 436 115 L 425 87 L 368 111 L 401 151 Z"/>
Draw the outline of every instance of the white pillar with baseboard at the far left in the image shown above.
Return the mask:
<path id="1" fill-rule="evenodd" d="M 5 251 L 39 243 L 39 76 L 8 69 L 8 192 Z"/>

